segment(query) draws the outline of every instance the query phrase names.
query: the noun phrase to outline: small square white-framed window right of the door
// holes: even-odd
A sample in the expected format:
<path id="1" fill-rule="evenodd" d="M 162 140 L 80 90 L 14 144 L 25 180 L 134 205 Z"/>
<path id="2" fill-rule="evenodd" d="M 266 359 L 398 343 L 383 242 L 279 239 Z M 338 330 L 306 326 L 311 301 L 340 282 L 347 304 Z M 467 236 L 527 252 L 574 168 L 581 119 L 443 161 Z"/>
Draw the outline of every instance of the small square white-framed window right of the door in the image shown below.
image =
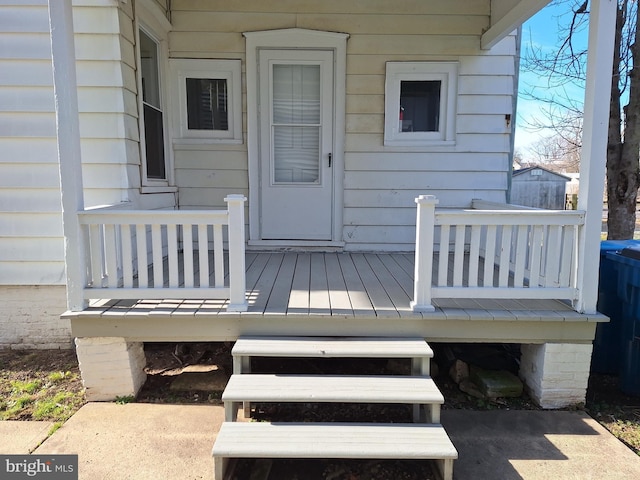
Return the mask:
<path id="1" fill-rule="evenodd" d="M 453 145 L 457 62 L 387 62 L 384 144 Z"/>

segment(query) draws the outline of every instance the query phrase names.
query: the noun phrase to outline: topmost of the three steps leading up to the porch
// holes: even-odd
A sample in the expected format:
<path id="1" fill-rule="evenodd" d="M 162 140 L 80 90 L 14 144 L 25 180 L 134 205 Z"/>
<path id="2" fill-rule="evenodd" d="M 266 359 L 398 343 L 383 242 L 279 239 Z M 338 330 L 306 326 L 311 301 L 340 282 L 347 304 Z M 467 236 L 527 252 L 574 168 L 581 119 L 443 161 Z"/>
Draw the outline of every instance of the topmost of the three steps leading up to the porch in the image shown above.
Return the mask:
<path id="1" fill-rule="evenodd" d="M 233 373 L 250 371 L 251 357 L 409 358 L 413 373 L 429 375 L 433 350 L 423 338 L 240 337 L 232 351 Z"/>

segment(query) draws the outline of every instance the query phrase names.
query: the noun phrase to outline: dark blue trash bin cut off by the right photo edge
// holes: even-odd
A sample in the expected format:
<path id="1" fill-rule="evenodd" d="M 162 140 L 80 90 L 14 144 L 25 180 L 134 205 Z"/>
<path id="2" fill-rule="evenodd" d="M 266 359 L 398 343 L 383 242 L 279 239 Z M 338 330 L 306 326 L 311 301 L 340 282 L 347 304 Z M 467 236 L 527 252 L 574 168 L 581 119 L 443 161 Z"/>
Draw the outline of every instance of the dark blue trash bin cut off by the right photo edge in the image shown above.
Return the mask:
<path id="1" fill-rule="evenodd" d="M 617 271 L 620 390 L 640 395 L 640 246 L 607 253 Z"/>

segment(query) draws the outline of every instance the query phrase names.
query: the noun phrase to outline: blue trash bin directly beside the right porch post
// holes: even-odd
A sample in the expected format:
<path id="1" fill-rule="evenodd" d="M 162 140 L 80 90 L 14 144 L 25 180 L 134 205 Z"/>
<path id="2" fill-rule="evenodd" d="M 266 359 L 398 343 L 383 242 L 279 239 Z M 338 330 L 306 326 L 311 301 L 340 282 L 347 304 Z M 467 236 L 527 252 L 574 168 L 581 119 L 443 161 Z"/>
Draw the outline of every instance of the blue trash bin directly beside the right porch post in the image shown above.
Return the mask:
<path id="1" fill-rule="evenodd" d="M 619 252 L 629 246 L 640 246 L 640 240 L 605 240 L 600 243 L 600 281 L 598 284 L 598 311 L 609 317 L 609 322 L 598 323 L 593 341 L 591 371 L 618 375 L 620 373 L 622 333 L 622 302 L 618 297 L 618 269 L 608 253 Z"/>

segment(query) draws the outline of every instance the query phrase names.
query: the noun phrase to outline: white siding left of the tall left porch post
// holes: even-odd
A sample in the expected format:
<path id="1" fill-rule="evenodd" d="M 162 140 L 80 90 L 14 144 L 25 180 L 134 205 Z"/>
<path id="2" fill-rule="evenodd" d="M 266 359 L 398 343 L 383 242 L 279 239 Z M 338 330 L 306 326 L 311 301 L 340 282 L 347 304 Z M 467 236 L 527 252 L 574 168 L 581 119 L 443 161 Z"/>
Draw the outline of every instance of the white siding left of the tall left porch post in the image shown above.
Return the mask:
<path id="1" fill-rule="evenodd" d="M 0 6 L 0 284 L 64 281 L 46 2 Z"/>

